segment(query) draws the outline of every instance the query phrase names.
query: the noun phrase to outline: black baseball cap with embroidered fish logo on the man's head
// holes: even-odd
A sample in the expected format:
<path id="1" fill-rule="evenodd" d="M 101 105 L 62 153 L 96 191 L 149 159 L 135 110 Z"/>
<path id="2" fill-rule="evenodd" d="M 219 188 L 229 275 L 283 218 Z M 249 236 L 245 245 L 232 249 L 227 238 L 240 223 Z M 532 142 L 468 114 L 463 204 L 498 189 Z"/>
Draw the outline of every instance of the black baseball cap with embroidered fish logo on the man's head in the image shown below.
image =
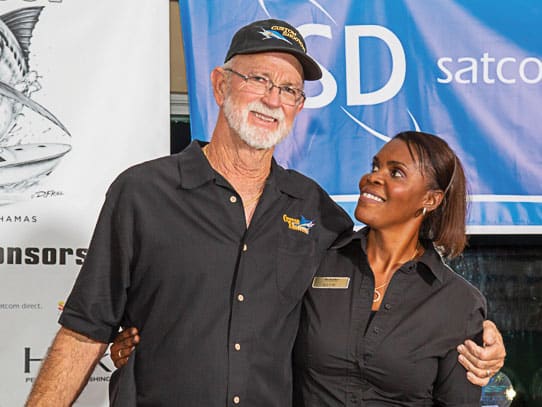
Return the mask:
<path id="1" fill-rule="evenodd" d="M 322 70 L 309 55 L 305 40 L 297 29 L 282 20 L 259 20 L 239 29 L 233 36 L 224 62 L 238 54 L 286 52 L 295 56 L 303 67 L 307 81 L 322 77 Z"/>

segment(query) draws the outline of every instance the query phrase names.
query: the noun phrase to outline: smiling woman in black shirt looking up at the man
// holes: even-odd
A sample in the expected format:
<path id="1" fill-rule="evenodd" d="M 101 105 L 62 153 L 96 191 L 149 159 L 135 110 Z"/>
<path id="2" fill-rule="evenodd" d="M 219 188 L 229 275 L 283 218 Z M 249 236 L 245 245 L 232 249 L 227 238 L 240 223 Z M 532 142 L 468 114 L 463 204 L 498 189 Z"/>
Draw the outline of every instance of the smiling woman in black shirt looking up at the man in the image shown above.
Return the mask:
<path id="1" fill-rule="evenodd" d="M 294 405 L 479 406 L 457 363 L 485 299 L 441 259 L 466 244 L 466 181 L 442 139 L 395 136 L 359 183 L 367 225 L 328 251 L 305 295 Z"/>

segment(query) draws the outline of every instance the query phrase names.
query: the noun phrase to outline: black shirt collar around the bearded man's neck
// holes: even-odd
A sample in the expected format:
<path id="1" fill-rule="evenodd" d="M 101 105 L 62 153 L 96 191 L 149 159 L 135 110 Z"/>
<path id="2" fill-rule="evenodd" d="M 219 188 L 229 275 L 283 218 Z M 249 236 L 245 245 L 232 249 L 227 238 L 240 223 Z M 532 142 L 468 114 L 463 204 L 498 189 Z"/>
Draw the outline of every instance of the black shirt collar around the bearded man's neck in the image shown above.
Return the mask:
<path id="1" fill-rule="evenodd" d="M 181 188 L 198 188 L 209 181 L 223 179 L 213 170 L 203 154 L 202 148 L 207 144 L 205 141 L 193 140 L 188 147 L 178 154 Z M 307 183 L 301 184 L 299 176 L 294 176 L 293 173 L 294 171 L 282 168 L 273 158 L 271 160 L 271 172 L 266 182 L 280 192 L 294 198 L 303 198 L 305 196 L 304 189 L 308 188 Z"/>

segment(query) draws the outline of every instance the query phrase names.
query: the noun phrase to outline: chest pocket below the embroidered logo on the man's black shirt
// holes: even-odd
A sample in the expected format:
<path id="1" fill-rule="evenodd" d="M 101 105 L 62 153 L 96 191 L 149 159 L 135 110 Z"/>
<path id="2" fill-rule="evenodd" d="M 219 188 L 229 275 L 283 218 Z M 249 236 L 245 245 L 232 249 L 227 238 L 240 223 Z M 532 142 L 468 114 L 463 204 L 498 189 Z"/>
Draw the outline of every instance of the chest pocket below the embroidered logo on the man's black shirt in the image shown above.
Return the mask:
<path id="1" fill-rule="evenodd" d="M 300 301 L 316 273 L 320 253 L 305 235 L 283 236 L 277 250 L 277 286 L 286 300 Z"/>

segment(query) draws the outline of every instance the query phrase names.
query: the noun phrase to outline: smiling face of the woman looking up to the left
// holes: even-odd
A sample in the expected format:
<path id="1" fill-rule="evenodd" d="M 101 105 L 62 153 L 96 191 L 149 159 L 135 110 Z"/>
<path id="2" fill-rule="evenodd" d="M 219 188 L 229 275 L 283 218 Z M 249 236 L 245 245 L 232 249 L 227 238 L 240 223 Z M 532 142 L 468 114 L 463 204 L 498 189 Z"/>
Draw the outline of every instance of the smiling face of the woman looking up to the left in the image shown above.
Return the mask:
<path id="1" fill-rule="evenodd" d="M 402 140 L 391 140 L 373 158 L 371 172 L 361 177 L 355 216 L 373 229 L 419 222 L 427 181 Z"/>

